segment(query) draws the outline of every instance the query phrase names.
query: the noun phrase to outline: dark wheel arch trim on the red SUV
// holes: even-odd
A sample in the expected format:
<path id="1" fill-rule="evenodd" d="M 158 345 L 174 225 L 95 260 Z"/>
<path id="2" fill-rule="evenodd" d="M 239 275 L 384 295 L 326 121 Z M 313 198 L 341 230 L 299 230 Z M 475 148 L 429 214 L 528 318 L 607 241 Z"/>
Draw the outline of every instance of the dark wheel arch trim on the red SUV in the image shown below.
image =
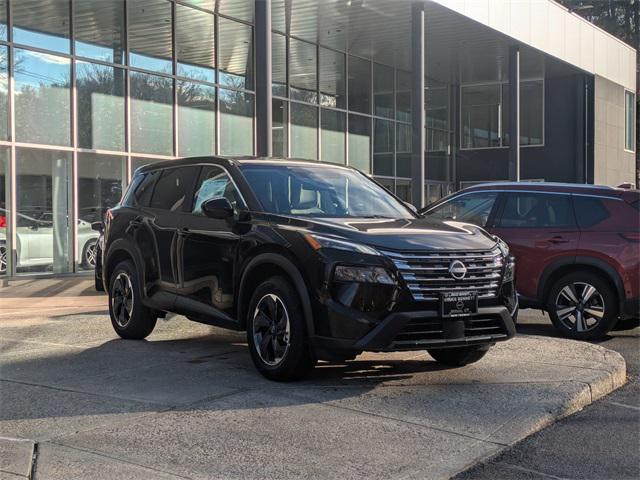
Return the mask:
<path id="1" fill-rule="evenodd" d="M 546 307 L 547 296 L 556 280 L 563 275 L 578 270 L 591 272 L 613 282 L 614 291 L 618 297 L 618 309 L 622 311 L 621 308 L 625 298 L 624 286 L 618 272 L 604 260 L 585 256 L 572 257 L 570 260 L 560 260 L 544 270 L 538 283 L 538 300 L 543 308 Z"/>

